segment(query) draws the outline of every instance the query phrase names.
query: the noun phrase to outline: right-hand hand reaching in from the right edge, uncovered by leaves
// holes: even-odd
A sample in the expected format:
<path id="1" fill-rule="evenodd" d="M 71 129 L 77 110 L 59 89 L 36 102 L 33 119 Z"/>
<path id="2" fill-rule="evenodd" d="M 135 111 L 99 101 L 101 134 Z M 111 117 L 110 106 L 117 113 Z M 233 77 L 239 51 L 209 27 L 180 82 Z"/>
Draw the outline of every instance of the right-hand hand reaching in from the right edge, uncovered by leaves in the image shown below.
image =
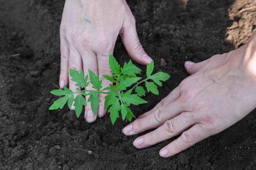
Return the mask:
<path id="1" fill-rule="evenodd" d="M 256 39 L 254 39 L 256 40 Z M 181 134 L 160 150 L 169 157 L 225 130 L 256 108 L 256 48 L 247 45 L 203 62 L 185 62 L 192 74 L 151 111 L 123 128 L 142 149 Z"/>

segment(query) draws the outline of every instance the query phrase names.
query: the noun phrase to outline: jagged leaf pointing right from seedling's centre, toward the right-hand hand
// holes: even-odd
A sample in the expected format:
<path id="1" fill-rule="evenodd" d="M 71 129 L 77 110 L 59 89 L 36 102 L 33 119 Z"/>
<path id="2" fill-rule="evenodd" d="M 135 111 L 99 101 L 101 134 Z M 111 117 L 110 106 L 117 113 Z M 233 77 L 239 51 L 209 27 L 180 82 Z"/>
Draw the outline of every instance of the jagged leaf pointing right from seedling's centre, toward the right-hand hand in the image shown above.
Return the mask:
<path id="1" fill-rule="evenodd" d="M 125 94 L 122 92 L 121 98 L 122 98 L 122 101 L 127 103 L 128 105 L 131 105 L 131 104 L 139 105 L 139 104 L 147 103 L 147 101 L 137 96 L 137 94 L 131 94 L 131 90 L 125 92 Z"/>

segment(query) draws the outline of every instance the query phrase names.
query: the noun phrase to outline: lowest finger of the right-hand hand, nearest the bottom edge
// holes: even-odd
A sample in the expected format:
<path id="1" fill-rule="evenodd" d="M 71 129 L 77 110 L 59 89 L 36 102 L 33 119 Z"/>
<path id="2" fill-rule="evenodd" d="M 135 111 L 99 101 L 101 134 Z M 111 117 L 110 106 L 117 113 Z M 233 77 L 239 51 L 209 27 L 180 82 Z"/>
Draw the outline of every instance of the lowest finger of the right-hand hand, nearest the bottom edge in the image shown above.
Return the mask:
<path id="1" fill-rule="evenodd" d="M 174 156 L 209 136 L 211 136 L 211 134 L 208 132 L 207 128 L 204 127 L 204 124 L 195 124 L 189 130 L 183 132 L 178 139 L 163 147 L 159 154 L 164 158 Z"/>

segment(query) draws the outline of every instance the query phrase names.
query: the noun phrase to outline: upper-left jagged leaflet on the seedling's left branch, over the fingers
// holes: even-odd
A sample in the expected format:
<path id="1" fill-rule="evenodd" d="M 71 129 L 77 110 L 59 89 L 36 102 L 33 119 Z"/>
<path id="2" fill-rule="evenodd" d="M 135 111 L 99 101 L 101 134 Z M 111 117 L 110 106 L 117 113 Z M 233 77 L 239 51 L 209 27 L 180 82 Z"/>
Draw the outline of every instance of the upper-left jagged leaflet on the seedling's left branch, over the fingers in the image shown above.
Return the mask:
<path id="1" fill-rule="evenodd" d="M 77 82 L 76 85 L 81 88 L 86 88 L 89 85 L 87 82 L 88 75 L 84 77 L 84 72 L 81 70 L 80 73 L 74 69 L 69 69 L 70 77 L 72 77 L 72 81 Z"/>

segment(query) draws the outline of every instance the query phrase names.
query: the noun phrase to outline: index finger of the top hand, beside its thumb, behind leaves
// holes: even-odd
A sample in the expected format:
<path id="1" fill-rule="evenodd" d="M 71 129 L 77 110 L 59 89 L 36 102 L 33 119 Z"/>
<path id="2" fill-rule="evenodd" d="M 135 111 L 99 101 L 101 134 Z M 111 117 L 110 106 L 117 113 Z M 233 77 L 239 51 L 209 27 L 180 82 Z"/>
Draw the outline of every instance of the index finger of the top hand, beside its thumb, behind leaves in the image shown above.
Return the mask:
<path id="1" fill-rule="evenodd" d="M 102 80 L 102 89 L 109 87 L 110 81 L 102 77 L 103 75 L 108 75 L 112 76 L 108 64 L 108 56 L 109 54 L 112 54 L 113 52 L 111 51 L 110 53 L 99 53 L 97 54 L 97 61 L 98 61 L 98 72 L 99 72 L 99 79 Z M 102 90 L 100 89 L 100 90 Z M 107 91 L 105 91 L 107 92 Z M 106 94 L 99 94 L 99 99 L 102 101 L 99 103 L 99 109 L 98 109 L 98 116 L 103 117 L 106 114 L 106 110 L 104 109 L 104 102 L 105 102 L 105 96 Z"/>

